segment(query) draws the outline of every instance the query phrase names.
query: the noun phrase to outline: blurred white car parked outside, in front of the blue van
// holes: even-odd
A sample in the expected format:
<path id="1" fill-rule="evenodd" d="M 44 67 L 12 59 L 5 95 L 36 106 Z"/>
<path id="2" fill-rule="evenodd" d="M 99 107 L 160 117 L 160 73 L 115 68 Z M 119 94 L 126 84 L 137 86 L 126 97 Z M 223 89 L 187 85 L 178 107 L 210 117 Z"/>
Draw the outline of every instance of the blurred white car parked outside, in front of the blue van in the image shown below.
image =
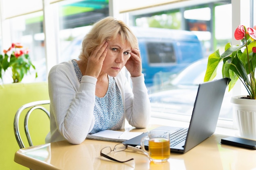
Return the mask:
<path id="1" fill-rule="evenodd" d="M 207 58 L 195 61 L 182 70 L 175 78 L 162 85 L 162 91 L 149 94 L 152 111 L 155 114 L 173 113 L 191 116 L 198 85 L 203 83 L 207 67 Z M 218 69 L 222 69 L 221 65 Z M 219 74 L 218 74 L 219 73 Z M 217 71 L 215 79 L 222 78 Z M 219 118 L 232 119 L 231 92 L 226 89 Z"/>

